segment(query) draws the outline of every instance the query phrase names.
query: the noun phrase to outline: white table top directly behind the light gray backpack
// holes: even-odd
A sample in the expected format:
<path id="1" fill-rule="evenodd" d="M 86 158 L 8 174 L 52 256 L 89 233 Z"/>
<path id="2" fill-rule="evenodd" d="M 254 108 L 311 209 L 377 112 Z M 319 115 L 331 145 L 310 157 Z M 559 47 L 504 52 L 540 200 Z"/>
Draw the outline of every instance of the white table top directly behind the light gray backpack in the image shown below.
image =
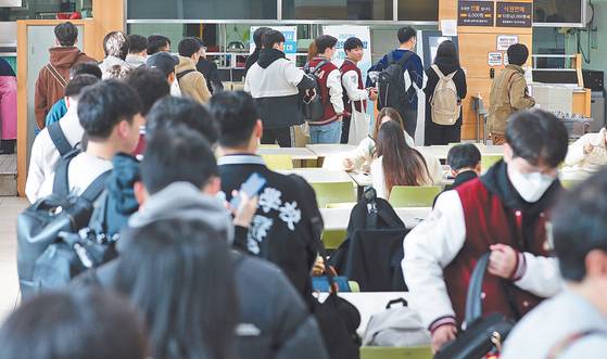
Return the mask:
<path id="1" fill-rule="evenodd" d="M 325 302 L 328 293 L 320 293 L 319 300 Z M 361 325 L 356 330 L 363 336 L 367 324 L 372 315 L 383 312 L 388 302 L 397 298 L 408 299 L 408 292 L 362 292 L 362 293 L 339 293 L 340 297 L 352 303 L 361 312 Z"/>

